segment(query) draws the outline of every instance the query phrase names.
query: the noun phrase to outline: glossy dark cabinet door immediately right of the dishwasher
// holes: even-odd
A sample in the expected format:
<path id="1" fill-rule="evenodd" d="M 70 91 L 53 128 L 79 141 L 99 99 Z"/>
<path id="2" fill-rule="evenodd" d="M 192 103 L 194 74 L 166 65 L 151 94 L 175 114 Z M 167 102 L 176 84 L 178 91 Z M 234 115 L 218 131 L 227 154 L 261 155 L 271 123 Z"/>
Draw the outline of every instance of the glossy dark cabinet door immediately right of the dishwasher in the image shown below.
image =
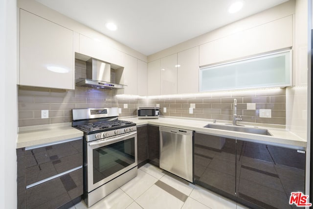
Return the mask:
<path id="1" fill-rule="evenodd" d="M 195 133 L 195 183 L 235 200 L 236 140 Z"/>

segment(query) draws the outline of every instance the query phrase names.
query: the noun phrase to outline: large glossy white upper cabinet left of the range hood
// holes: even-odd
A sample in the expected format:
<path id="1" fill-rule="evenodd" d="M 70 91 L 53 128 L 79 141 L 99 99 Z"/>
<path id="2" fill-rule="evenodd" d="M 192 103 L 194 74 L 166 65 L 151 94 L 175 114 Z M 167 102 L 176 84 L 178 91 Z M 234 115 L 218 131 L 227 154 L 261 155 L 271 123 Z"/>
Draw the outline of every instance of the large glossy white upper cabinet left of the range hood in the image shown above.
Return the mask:
<path id="1" fill-rule="evenodd" d="M 73 31 L 20 9 L 20 85 L 74 89 Z"/>

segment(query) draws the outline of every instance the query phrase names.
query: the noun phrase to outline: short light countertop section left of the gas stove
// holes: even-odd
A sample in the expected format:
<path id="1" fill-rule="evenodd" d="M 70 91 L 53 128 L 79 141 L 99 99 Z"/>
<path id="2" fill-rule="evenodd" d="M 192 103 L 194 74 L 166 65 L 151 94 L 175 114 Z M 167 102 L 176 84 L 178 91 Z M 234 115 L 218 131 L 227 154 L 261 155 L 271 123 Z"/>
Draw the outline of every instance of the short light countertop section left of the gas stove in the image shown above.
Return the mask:
<path id="1" fill-rule="evenodd" d="M 84 132 L 71 126 L 71 123 L 20 127 L 16 148 L 41 145 L 83 137 Z"/>

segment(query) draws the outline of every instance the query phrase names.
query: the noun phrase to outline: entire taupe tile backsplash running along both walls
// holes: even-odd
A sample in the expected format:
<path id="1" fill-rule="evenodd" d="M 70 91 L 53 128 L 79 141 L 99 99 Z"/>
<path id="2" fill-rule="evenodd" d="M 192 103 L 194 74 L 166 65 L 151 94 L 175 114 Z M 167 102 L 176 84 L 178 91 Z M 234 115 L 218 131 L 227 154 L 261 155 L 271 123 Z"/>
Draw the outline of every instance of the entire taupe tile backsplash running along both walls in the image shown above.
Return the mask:
<path id="1" fill-rule="evenodd" d="M 86 62 L 76 60 L 75 78 L 85 76 Z M 231 120 L 234 98 L 237 99 L 237 115 L 242 116 L 243 121 L 286 124 L 286 90 L 280 88 L 141 97 L 88 87 L 75 87 L 75 90 L 19 87 L 19 126 L 71 122 L 72 109 L 118 107 L 122 109 L 119 116 L 126 117 L 137 116 L 140 106 L 156 105 L 160 107 L 161 116 Z M 255 103 L 256 110 L 247 110 L 250 103 Z M 189 114 L 191 104 L 195 108 Z M 260 109 L 270 109 L 272 117 L 259 117 Z M 41 110 L 49 110 L 49 118 L 42 119 Z"/>

